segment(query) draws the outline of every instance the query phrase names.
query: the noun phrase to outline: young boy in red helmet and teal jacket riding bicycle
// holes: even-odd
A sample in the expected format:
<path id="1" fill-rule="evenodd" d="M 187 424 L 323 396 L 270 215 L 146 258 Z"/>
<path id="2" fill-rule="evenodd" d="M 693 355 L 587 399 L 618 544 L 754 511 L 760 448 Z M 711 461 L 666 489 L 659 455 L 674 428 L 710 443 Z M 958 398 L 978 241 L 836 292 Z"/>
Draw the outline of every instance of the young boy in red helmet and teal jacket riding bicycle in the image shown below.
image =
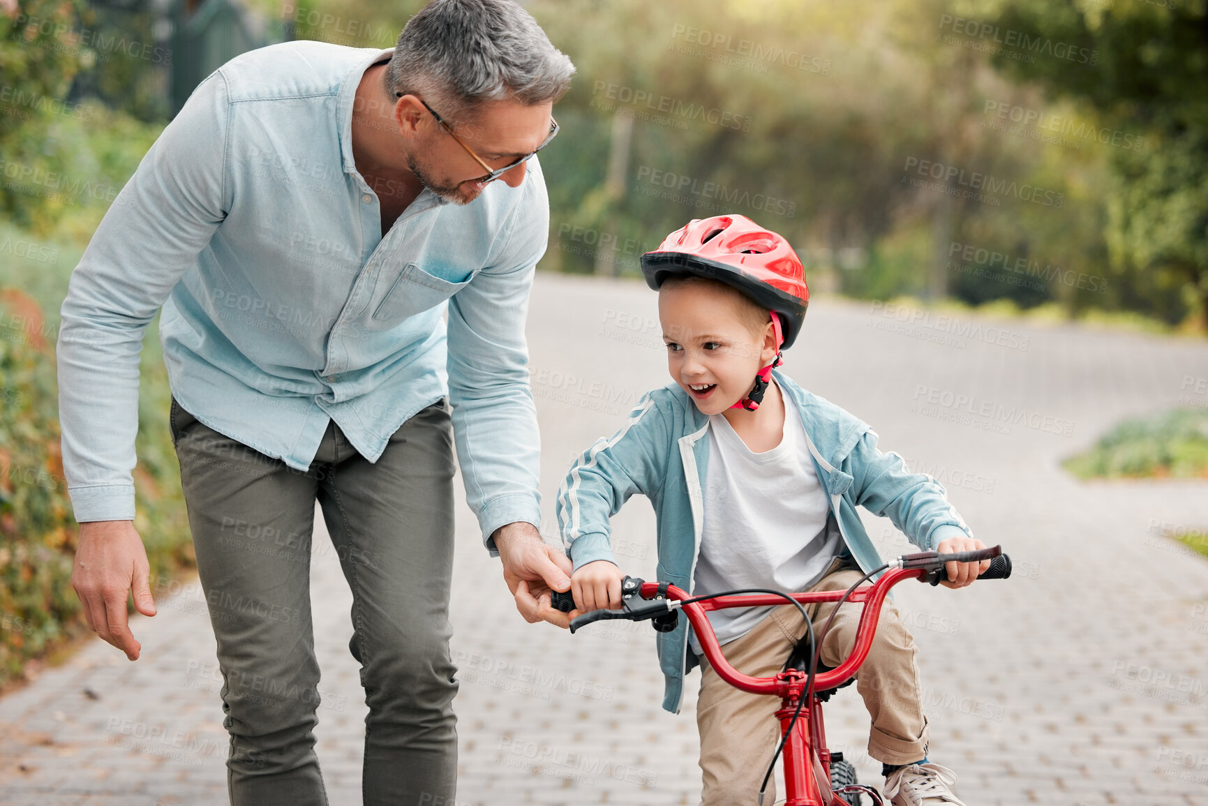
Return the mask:
<path id="1" fill-rule="evenodd" d="M 692 595 L 738 587 L 846 590 L 882 564 L 855 511 L 888 515 L 912 543 L 942 552 L 985 547 L 933 477 L 881 453 L 867 424 L 773 371 L 801 332 L 809 291 L 789 243 L 741 215 L 692 220 L 641 257 L 658 290 L 674 383 L 645 395 L 625 425 L 593 445 L 558 494 L 580 611 L 618 608 L 622 572 L 609 517 L 634 493 L 657 517 L 658 580 Z M 754 378 L 754 381 L 753 381 Z M 985 563 L 948 563 L 949 587 Z M 812 605 L 814 630 L 834 609 Z M 861 605 L 840 608 L 820 662 L 849 654 Z M 779 672 L 806 625 L 791 604 L 709 614 L 726 659 L 753 675 Z M 663 708 L 679 713 L 684 675 L 702 667 L 697 725 L 705 806 L 755 804 L 780 727 L 778 700 L 739 691 L 701 656 L 687 620 L 658 634 Z M 691 648 L 691 653 L 689 653 Z M 885 603 L 856 688 L 872 718 L 869 754 L 894 804 L 960 804 L 956 775 L 928 762 L 917 651 Z M 774 789 L 774 779 L 769 783 Z M 768 791 L 765 802 L 774 802 Z"/>

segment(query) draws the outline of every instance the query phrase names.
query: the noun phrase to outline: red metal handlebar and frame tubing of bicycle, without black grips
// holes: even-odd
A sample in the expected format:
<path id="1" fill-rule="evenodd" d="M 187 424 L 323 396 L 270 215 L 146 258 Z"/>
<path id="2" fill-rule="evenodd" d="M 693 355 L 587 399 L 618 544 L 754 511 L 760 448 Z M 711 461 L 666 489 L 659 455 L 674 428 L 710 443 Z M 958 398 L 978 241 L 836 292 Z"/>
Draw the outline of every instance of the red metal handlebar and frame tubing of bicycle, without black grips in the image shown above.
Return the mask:
<path id="1" fill-rule="evenodd" d="M 869 650 L 872 648 L 872 638 L 876 636 L 877 622 L 881 617 L 881 605 L 884 603 L 889 588 L 904 579 L 922 579 L 927 573 L 922 568 L 895 568 L 885 572 L 876 582 L 855 588 L 847 597 L 848 602 L 864 603 L 864 611 L 860 614 L 860 624 L 856 627 L 855 645 L 852 649 L 852 654 L 837 668 L 814 674 L 814 694 L 809 698 L 809 702 L 802 706 L 800 715 L 797 715 L 796 721 L 792 724 L 792 730 L 785 738 L 783 750 L 784 788 L 786 790 L 785 806 L 835 806 L 837 802 L 836 800 L 823 800 L 823 789 L 819 785 L 818 775 L 812 760 L 813 753 L 817 750 L 823 775 L 826 776 L 826 787 L 829 790 L 831 754 L 826 749 L 826 731 L 823 726 L 821 701 L 818 698 L 818 692 L 846 683 L 855 675 L 855 672 L 864 663 L 869 656 Z M 654 598 L 658 593 L 658 582 L 643 582 L 640 596 L 643 598 Z M 844 592 L 818 591 L 789 593 L 788 596 L 791 596 L 802 604 L 813 604 L 818 602 L 838 602 L 843 598 Z M 680 601 L 691 598 L 683 588 L 674 585 L 667 587 L 666 597 Z M 778 604 L 785 604 L 784 597 L 757 593 L 719 596 L 703 602 L 690 602 L 684 604 L 681 609 L 687 615 L 692 630 L 696 631 L 696 637 L 701 642 L 701 649 L 704 651 L 705 657 L 709 659 L 709 663 L 713 665 L 714 671 L 716 671 L 722 680 L 750 694 L 774 694 L 780 697 L 780 707 L 776 712 L 776 717 L 780 720 L 780 732 L 784 735 L 784 731 L 789 730 L 789 723 L 792 721 L 794 713 L 797 711 L 797 703 L 805 695 L 806 672 L 786 669 L 776 677 L 762 678 L 743 674 L 731 666 L 725 655 L 721 654 L 721 645 L 718 644 L 718 637 L 714 634 L 713 625 L 709 622 L 707 615 L 709 610 Z"/>

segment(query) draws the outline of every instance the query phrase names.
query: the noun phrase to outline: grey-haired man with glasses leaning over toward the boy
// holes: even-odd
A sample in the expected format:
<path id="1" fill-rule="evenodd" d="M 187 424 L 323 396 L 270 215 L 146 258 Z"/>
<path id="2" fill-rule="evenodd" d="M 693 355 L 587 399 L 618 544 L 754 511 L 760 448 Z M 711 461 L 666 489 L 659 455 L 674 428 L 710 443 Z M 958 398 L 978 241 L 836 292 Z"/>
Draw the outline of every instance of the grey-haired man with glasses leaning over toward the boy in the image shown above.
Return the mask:
<path id="1" fill-rule="evenodd" d="M 72 587 L 135 660 L 127 595 L 155 614 L 133 524 L 139 349 L 162 306 L 232 804 L 326 802 L 315 500 L 353 592 L 366 804 L 453 802 L 453 435 L 517 607 L 565 620 L 538 599 L 569 587 L 570 563 L 536 530 L 523 327 L 548 233 L 529 157 L 573 73 L 509 0 L 434 0 L 388 51 L 245 53 L 197 87 L 71 277 L 58 366 Z"/>

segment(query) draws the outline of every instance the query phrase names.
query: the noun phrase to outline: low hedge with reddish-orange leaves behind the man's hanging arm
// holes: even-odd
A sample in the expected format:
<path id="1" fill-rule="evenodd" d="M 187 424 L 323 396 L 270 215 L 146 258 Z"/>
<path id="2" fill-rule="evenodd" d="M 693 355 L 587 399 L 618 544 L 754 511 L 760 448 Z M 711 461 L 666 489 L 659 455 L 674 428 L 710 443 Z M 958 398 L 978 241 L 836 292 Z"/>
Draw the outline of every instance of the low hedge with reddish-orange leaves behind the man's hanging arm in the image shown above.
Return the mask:
<path id="1" fill-rule="evenodd" d="M 0 290 L 0 686 L 87 631 L 70 582 L 79 524 L 59 451 L 56 330 L 33 297 Z M 196 563 L 158 349 L 144 350 L 141 371 L 135 526 L 155 580 Z"/>

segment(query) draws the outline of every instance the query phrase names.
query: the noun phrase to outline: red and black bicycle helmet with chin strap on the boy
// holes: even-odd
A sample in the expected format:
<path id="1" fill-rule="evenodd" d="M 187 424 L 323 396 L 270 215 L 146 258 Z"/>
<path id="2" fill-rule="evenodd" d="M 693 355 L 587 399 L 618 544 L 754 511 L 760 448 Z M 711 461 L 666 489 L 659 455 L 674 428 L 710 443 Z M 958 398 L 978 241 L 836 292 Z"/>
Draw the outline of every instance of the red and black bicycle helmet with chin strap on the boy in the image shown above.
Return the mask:
<path id="1" fill-rule="evenodd" d="M 797 253 L 780 236 L 745 215 L 692 219 L 667 236 L 655 251 L 641 256 L 641 273 L 654 290 L 668 277 L 696 274 L 732 285 L 773 313 L 772 323 L 790 347 L 801 332 L 809 305 L 806 269 Z M 776 359 L 759 371 L 755 387 L 732 407 L 759 408 Z"/>

